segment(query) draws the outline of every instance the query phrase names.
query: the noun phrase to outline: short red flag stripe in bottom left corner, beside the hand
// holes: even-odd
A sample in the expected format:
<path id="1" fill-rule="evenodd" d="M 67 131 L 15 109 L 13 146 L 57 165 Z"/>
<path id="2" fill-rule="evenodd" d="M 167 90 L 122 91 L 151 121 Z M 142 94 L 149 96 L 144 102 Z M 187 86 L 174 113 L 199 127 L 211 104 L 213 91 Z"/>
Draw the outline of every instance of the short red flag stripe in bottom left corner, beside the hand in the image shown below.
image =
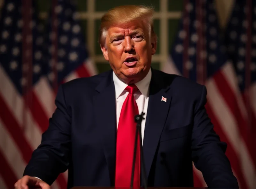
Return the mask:
<path id="1" fill-rule="evenodd" d="M 8 161 L 4 158 L 3 153 L 0 150 L 0 162 L 1 162 L 1 169 L 0 174 L 4 180 L 4 183 L 9 189 L 14 188 L 15 182 L 18 180 L 15 173 L 13 172 L 11 166 L 9 165 Z"/>

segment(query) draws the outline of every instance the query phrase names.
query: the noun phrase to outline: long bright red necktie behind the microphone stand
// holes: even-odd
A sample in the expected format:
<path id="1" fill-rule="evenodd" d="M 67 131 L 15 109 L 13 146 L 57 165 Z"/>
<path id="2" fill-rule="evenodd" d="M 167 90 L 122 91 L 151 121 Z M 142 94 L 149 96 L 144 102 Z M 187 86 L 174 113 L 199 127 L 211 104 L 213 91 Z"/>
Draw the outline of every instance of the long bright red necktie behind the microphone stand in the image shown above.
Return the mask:
<path id="1" fill-rule="evenodd" d="M 136 132 L 134 116 L 139 114 L 138 106 L 133 96 L 138 88 L 132 84 L 127 86 L 125 90 L 127 90 L 129 94 L 122 106 L 116 137 L 116 187 L 130 187 Z M 139 136 L 136 151 L 133 186 L 140 187 Z"/>

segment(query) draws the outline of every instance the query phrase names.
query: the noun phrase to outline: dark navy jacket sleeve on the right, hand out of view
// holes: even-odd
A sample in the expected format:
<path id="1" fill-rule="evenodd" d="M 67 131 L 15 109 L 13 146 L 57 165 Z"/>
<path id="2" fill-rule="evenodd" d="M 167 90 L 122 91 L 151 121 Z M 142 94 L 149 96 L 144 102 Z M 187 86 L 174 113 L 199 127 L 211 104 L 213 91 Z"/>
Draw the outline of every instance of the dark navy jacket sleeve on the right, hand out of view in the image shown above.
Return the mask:
<path id="1" fill-rule="evenodd" d="M 209 188 L 238 188 L 225 151 L 226 143 L 221 142 L 214 132 L 213 125 L 204 107 L 206 103 L 206 87 L 197 99 L 194 111 L 192 131 L 192 159 L 195 167 L 203 173 Z"/>

